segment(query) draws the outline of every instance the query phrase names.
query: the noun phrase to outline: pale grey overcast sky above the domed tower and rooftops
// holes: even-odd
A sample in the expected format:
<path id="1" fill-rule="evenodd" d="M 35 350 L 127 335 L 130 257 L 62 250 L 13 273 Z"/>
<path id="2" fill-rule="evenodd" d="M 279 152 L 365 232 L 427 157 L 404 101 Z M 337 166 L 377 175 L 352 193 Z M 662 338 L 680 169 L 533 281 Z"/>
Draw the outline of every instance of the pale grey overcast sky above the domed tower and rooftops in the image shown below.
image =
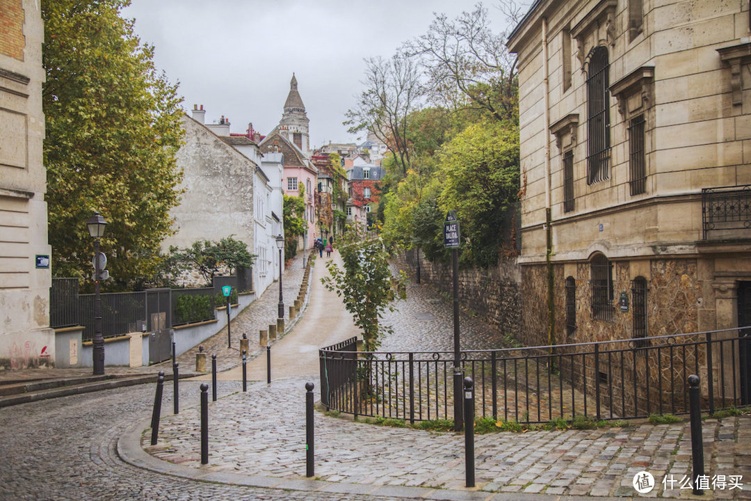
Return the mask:
<path id="1" fill-rule="evenodd" d="M 224 115 L 232 132 L 261 134 L 282 118 L 292 73 L 310 119 L 310 145 L 357 137 L 342 125 L 363 89 L 363 58 L 389 57 L 427 32 L 433 13 L 456 17 L 474 0 L 131 0 L 155 65 L 179 81 L 183 107 L 203 104 L 207 123 Z M 493 31 L 505 28 L 486 1 Z M 361 137 L 360 139 L 363 139 Z"/>

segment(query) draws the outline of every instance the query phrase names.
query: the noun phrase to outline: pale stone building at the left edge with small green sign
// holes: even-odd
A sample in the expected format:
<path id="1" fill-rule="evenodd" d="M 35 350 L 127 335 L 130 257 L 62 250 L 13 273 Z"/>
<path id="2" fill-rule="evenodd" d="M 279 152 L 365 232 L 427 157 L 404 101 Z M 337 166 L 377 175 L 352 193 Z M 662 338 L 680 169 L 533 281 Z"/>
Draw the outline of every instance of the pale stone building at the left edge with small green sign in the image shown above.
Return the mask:
<path id="1" fill-rule="evenodd" d="M 0 0 L 0 370 L 55 358 L 42 41 L 37 0 Z"/>

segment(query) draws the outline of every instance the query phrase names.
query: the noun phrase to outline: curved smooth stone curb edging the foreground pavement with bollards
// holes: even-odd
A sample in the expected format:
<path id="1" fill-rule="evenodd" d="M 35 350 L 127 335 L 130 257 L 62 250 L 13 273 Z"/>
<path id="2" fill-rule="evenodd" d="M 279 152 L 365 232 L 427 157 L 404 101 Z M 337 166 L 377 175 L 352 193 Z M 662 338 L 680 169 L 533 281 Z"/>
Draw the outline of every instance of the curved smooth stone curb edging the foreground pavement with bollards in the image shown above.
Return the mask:
<path id="1" fill-rule="evenodd" d="M 170 463 L 153 457 L 141 447 L 143 433 L 151 426 L 150 418 L 131 424 L 117 439 L 116 453 L 120 459 L 132 466 L 172 475 L 189 480 L 219 484 L 243 485 L 267 489 L 300 490 L 338 494 L 365 494 L 375 499 L 384 496 L 406 499 L 441 499 L 442 501 L 629 501 L 632 497 L 591 497 L 565 496 L 529 493 L 493 493 L 483 490 L 436 489 L 434 487 L 407 487 L 401 485 L 348 484 L 324 480 L 313 480 L 300 475 L 295 478 L 276 478 L 264 475 L 242 475 L 240 473 L 215 472 L 210 465 L 198 468 Z"/>

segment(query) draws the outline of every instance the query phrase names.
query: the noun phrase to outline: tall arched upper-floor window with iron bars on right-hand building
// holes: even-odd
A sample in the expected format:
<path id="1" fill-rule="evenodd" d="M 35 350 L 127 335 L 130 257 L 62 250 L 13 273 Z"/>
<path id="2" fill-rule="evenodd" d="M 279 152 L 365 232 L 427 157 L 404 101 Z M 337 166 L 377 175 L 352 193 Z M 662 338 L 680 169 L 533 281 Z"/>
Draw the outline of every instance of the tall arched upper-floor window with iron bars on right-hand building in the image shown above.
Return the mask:
<path id="1" fill-rule="evenodd" d="M 608 49 L 590 53 L 587 67 L 587 184 L 610 178 L 610 85 Z"/>

